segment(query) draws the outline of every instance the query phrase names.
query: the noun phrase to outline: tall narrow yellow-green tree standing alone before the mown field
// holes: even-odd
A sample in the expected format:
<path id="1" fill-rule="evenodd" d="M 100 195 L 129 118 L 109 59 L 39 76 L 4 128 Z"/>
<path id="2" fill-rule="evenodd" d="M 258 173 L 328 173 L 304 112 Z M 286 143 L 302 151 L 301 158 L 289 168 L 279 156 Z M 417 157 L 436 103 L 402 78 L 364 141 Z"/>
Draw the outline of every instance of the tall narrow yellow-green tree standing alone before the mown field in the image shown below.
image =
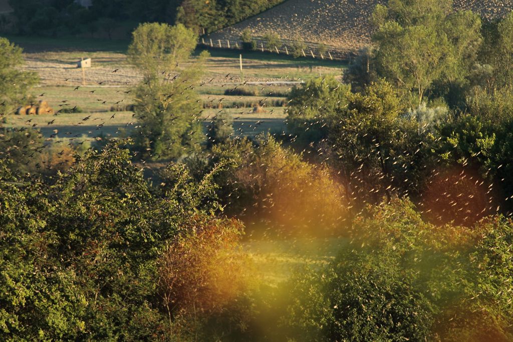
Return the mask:
<path id="1" fill-rule="evenodd" d="M 195 46 L 196 36 L 181 24 L 142 24 L 133 32 L 128 58 L 144 76 L 133 89 L 141 124 L 135 141 L 143 157 L 176 158 L 198 149 L 203 140 L 194 87 L 208 54 L 183 66 Z"/>

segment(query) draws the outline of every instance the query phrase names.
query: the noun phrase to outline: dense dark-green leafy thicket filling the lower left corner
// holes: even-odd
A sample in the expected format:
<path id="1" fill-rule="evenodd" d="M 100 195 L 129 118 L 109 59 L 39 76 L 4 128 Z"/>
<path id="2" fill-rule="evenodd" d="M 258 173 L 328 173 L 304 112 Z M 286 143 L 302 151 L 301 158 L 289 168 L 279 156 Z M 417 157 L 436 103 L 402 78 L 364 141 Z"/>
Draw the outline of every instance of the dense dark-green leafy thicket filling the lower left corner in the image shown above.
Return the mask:
<path id="1" fill-rule="evenodd" d="M 195 296 L 205 308 L 221 310 L 244 287 L 242 278 L 238 287 L 222 287 L 235 286 L 229 272 L 242 259 L 228 263 L 231 254 L 220 253 L 225 248 L 228 253 L 227 243 L 236 242 L 241 226 L 210 213 L 215 203 L 203 198 L 213 190 L 211 175 L 200 186 L 170 167 L 167 187 L 151 189 L 131 165 L 128 150 L 115 146 L 89 151 L 51 184 L 37 177 L 16 178 L 4 163 L 1 172 L 3 340 L 169 339 L 181 333 L 173 329 L 180 326 L 174 322 L 182 310 L 194 305 L 184 291 L 195 292 L 194 286 L 207 291 Z M 218 234 L 226 242 L 216 240 Z M 209 243 L 212 238 L 215 244 Z M 167 259 L 171 250 L 198 240 L 211 249 L 194 256 L 173 253 Z M 210 275 L 200 265 L 199 273 L 188 267 L 186 258 L 208 262 L 214 255 L 226 272 L 219 264 Z M 159 274 L 171 276 L 159 273 L 170 262 L 177 263 L 175 272 L 187 272 L 198 284 L 184 283 L 182 277 L 180 283 L 159 280 Z M 196 314 L 200 319 L 201 312 Z"/>

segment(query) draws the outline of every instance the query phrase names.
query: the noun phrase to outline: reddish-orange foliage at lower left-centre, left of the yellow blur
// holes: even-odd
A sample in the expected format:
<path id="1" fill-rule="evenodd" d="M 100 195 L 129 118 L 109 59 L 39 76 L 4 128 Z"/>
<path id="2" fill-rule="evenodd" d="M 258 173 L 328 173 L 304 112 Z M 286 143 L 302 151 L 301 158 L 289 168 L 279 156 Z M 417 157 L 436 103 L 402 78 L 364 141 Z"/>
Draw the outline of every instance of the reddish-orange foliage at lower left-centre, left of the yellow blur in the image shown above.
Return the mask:
<path id="1" fill-rule="evenodd" d="M 219 313 L 247 286 L 248 261 L 238 249 L 242 224 L 194 217 L 162 256 L 159 287 L 169 316 Z"/>

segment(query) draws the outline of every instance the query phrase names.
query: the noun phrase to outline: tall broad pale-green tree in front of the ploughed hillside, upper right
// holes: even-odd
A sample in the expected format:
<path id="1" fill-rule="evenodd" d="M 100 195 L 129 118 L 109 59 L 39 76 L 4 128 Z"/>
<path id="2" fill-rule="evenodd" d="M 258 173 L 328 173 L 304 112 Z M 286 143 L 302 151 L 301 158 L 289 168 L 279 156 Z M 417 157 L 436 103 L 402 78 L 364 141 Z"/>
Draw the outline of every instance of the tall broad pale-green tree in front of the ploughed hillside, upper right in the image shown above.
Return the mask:
<path id="1" fill-rule="evenodd" d="M 467 75 L 477 56 L 479 18 L 450 14 L 451 6 L 451 1 L 395 0 L 373 14 L 380 74 L 410 94 L 413 106 L 438 79 Z"/>

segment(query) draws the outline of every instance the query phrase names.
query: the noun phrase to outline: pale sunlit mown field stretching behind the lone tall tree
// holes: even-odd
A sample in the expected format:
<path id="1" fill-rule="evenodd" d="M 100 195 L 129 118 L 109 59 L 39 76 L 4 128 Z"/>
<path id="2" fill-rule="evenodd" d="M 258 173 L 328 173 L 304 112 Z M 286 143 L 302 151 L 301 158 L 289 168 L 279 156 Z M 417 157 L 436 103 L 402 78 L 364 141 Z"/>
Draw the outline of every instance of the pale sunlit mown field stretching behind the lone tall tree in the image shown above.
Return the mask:
<path id="1" fill-rule="evenodd" d="M 25 70 L 37 72 L 40 85 L 33 90 L 36 100 L 45 100 L 55 112 L 76 107 L 75 113 L 57 115 L 13 116 L 7 127 L 30 126 L 41 129 L 50 137 L 84 135 L 118 136 L 137 126 L 126 106 L 133 104 L 131 87 L 141 80 L 126 61 L 126 41 L 106 41 L 87 38 L 33 38 L 9 36 L 24 48 Z M 196 55 L 200 50 L 196 51 Z M 204 104 L 201 118 L 207 126 L 221 110 L 231 113 L 235 133 L 256 135 L 281 132 L 285 129 L 286 95 L 302 81 L 323 75 L 341 77 L 345 64 L 307 58 L 293 59 L 285 55 L 242 52 L 243 74 L 240 73 L 240 53 L 235 50 L 210 50 L 202 83 L 196 87 Z M 76 62 L 92 58 L 92 67 L 85 78 Z M 115 71 L 115 72 L 114 72 Z M 246 83 L 255 84 L 241 84 Z M 231 89 L 242 95 L 227 94 Z M 255 107 L 262 107 L 254 110 Z M 84 118 L 89 117 L 86 120 Z M 32 119 L 30 122 L 27 120 Z"/>

